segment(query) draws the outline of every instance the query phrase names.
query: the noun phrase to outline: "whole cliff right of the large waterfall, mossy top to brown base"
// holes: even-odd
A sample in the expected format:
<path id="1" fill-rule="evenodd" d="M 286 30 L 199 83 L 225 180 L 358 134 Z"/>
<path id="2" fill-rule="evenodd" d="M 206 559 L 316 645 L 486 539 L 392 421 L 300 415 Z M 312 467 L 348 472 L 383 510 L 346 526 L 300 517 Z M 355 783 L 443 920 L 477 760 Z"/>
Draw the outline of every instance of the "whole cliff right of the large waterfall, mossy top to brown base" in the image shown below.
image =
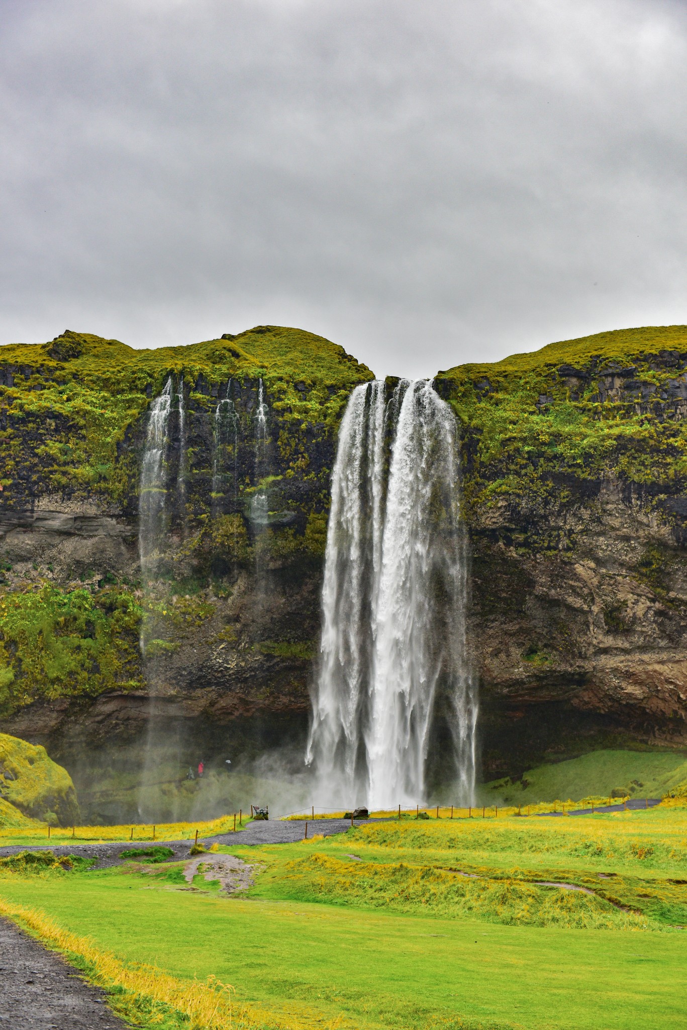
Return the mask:
<path id="1" fill-rule="evenodd" d="M 440 373 L 462 426 L 487 767 L 687 743 L 687 328 Z"/>

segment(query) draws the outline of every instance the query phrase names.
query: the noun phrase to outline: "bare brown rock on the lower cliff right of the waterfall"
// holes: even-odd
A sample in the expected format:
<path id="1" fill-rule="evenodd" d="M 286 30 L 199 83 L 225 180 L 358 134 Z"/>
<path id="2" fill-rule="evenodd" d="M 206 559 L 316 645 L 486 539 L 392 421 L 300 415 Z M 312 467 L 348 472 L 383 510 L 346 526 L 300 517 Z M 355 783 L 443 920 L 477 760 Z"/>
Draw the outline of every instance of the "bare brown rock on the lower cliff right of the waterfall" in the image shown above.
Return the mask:
<path id="1" fill-rule="evenodd" d="M 473 531 L 487 768 L 614 735 L 687 745 L 687 566 L 673 530 L 609 482 L 550 513 L 548 528 L 575 540 L 558 553 L 495 541 L 493 522 Z M 513 529 L 507 516 L 499 529 Z"/>

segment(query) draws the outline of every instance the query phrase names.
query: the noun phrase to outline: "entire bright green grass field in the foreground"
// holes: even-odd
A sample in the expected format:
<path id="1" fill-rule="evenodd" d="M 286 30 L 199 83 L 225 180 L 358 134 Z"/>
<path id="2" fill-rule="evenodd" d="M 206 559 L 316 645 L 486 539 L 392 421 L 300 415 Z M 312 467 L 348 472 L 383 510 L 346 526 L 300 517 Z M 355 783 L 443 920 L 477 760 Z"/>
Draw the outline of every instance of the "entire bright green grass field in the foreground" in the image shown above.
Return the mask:
<path id="1" fill-rule="evenodd" d="M 4 869 L 0 896 L 124 960 L 216 975 L 298 1027 L 685 1026 L 687 809 L 222 850 L 263 868 L 248 896 L 190 888 L 178 864 Z"/>

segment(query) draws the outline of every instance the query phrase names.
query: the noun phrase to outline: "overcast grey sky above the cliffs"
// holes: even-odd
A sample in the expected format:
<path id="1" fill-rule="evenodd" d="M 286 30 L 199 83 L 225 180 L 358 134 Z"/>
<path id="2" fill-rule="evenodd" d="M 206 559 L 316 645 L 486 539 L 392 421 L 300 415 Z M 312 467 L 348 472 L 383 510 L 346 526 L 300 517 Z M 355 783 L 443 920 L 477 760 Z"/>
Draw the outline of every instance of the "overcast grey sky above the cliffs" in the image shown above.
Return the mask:
<path id="1" fill-rule="evenodd" d="M 687 3 L 0 0 L 0 342 L 687 322 Z"/>

